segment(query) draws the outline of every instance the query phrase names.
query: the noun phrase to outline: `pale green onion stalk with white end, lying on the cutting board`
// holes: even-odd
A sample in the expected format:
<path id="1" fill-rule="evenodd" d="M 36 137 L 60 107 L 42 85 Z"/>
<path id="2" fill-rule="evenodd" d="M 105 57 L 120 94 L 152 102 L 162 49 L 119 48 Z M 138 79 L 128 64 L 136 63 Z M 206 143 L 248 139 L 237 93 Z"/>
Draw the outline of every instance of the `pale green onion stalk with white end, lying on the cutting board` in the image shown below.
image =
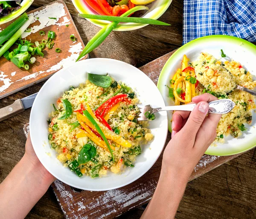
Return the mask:
<path id="1" fill-rule="evenodd" d="M 29 16 L 29 19 L 15 32 L 14 35 L 0 48 L 0 57 L 16 42 L 16 40 L 23 34 L 34 19 L 33 16 Z"/>

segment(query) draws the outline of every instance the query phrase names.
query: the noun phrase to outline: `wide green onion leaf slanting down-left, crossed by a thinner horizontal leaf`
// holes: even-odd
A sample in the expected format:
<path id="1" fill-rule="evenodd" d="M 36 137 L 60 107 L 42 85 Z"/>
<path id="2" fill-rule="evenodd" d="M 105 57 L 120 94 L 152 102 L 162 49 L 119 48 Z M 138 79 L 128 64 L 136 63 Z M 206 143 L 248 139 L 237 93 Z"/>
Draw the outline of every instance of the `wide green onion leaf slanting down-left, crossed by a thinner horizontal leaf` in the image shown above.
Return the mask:
<path id="1" fill-rule="evenodd" d="M 133 14 L 134 12 L 140 11 L 140 10 L 148 10 L 148 7 L 146 6 L 136 6 L 124 14 L 122 14 L 120 17 L 128 17 L 130 14 Z M 111 31 L 116 28 L 119 21 L 114 21 L 105 27 L 103 27 L 94 37 L 87 43 L 87 45 L 84 47 L 83 51 L 80 53 L 79 57 L 76 61 L 79 61 L 84 55 L 87 55 L 89 52 L 93 51 L 93 49 L 96 49 L 111 33 Z"/>

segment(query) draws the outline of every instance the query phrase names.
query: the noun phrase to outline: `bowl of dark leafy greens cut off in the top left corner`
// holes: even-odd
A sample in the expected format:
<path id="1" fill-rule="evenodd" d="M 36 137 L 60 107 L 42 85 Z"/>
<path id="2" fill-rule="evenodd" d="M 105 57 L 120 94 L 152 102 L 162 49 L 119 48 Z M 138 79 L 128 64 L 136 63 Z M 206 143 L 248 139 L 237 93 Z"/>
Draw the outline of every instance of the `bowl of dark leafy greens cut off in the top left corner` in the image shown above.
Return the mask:
<path id="1" fill-rule="evenodd" d="M 24 13 L 34 0 L 0 1 L 0 25 Z"/>

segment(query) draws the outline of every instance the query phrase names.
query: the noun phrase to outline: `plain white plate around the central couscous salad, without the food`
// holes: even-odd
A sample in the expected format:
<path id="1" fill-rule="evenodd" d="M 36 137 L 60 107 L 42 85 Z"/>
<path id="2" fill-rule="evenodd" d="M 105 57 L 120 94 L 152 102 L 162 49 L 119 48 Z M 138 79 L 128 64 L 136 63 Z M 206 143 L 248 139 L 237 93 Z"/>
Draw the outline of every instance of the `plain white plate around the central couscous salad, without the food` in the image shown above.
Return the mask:
<path id="1" fill-rule="evenodd" d="M 137 156 L 135 167 L 126 168 L 121 175 L 109 172 L 101 178 L 91 179 L 90 176 L 79 178 L 69 168 L 63 167 L 56 158 L 55 150 L 51 149 L 48 142 L 47 119 L 49 119 L 49 112 L 53 110 L 52 104 L 56 103 L 71 85 L 79 86 L 85 83 L 87 72 L 94 74 L 108 72 L 116 81 L 123 81 L 135 89 L 142 104 L 159 107 L 164 106 L 164 101 L 157 86 L 139 69 L 127 63 L 106 58 L 87 59 L 61 69 L 49 78 L 38 92 L 30 114 L 30 136 L 41 163 L 53 176 L 70 186 L 90 191 L 111 190 L 134 182 L 157 161 L 168 132 L 167 114 L 160 112 L 156 114 L 154 121 L 150 121 L 149 128 L 154 134 L 154 140 L 142 146 L 143 153 Z"/>

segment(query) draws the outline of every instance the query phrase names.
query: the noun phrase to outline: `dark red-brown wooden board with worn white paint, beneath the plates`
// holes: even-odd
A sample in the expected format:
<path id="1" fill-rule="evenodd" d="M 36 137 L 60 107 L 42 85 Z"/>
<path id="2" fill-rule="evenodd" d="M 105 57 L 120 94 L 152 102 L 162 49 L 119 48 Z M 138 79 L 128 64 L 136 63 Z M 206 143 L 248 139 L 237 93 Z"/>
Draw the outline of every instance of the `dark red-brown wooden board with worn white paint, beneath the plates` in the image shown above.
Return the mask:
<path id="1" fill-rule="evenodd" d="M 174 53 L 170 52 L 145 66 L 142 70 L 155 84 L 168 58 Z M 28 124 L 26 125 L 28 127 Z M 27 128 L 24 128 L 27 130 Z M 166 144 L 170 141 L 171 134 L 168 133 Z M 165 145 L 166 146 L 166 145 Z M 204 155 L 192 175 L 193 180 L 204 173 L 220 166 L 239 156 L 210 156 Z M 144 176 L 135 182 L 115 190 L 105 192 L 83 191 L 70 187 L 59 180 L 52 183 L 58 203 L 67 219 L 111 219 L 120 216 L 134 207 L 143 205 L 150 201 L 160 175 L 163 153 L 154 166 Z"/>

